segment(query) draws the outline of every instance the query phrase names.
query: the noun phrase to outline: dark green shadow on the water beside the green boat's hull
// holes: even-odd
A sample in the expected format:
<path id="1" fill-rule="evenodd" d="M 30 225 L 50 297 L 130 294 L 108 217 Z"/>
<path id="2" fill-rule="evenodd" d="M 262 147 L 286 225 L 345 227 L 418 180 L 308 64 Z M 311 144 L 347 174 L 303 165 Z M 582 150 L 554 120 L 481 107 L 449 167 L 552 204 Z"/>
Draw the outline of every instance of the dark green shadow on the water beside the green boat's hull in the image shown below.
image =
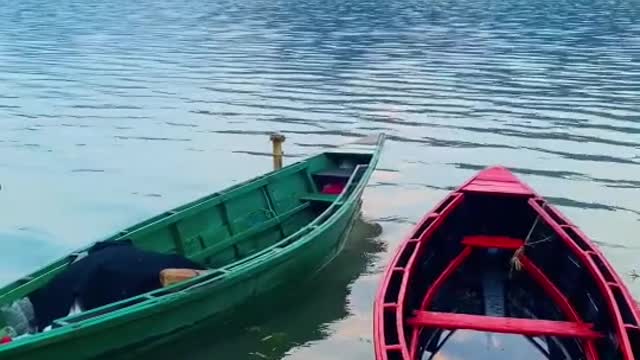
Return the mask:
<path id="1" fill-rule="evenodd" d="M 277 289 L 238 308 L 225 320 L 207 320 L 135 352 L 109 359 L 280 359 L 289 350 L 321 340 L 325 325 L 349 316 L 350 285 L 368 271 L 381 226 L 358 217 L 343 251 L 303 284 Z"/>

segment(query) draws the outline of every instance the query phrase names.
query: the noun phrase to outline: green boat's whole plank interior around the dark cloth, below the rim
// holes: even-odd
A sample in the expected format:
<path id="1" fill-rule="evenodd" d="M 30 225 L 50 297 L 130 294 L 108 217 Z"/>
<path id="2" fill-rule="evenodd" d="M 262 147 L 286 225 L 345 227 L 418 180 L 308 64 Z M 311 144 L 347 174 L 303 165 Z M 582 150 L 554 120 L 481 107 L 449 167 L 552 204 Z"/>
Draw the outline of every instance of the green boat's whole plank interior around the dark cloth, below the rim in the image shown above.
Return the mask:
<path id="1" fill-rule="evenodd" d="M 197 279 L 56 320 L 54 328 L 148 301 L 202 282 L 219 280 L 237 266 L 278 251 L 321 226 L 356 189 L 371 153 L 327 152 L 239 183 L 125 229 L 107 240 L 177 253 L 210 271 Z M 27 296 L 64 271 L 85 250 L 5 286 L 0 305 Z"/>

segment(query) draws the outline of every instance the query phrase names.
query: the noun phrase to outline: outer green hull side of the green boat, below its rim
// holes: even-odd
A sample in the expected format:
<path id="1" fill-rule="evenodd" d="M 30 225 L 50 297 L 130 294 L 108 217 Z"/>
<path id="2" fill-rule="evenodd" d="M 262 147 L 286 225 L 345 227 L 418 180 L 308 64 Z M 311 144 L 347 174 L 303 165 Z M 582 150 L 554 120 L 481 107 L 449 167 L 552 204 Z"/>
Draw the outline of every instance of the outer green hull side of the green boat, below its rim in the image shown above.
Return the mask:
<path id="1" fill-rule="evenodd" d="M 359 206 L 345 209 L 333 226 L 324 229 L 304 248 L 256 264 L 223 283 L 202 288 L 186 297 L 164 301 L 148 311 L 121 317 L 110 322 L 109 326 L 89 325 L 74 329 L 49 343 L 42 342 L 33 347 L 18 347 L 0 353 L 0 359 L 81 360 L 117 357 L 122 349 L 135 350 L 149 341 L 161 345 L 164 342 L 162 337 L 196 326 L 201 321 L 215 318 L 228 320 L 235 308 L 259 301 L 271 289 L 305 281 L 333 260 L 348 237 L 345 229 L 355 219 L 358 209 Z M 109 349 L 109 354 L 104 354 L 105 349 Z"/>

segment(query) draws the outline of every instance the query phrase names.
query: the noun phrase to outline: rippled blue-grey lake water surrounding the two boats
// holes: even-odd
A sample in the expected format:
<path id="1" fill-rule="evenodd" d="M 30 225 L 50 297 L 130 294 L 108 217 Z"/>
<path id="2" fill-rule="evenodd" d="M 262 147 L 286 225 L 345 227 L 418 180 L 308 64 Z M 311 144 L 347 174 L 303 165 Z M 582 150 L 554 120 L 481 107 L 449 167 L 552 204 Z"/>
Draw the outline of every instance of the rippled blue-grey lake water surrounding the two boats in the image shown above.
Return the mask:
<path id="1" fill-rule="evenodd" d="M 357 231 L 313 284 L 222 343 L 201 332 L 153 357 L 370 359 L 392 251 L 492 164 L 556 204 L 640 297 L 636 0 L 2 5 L 3 284 L 268 171 L 272 131 L 288 163 L 389 135 Z"/>

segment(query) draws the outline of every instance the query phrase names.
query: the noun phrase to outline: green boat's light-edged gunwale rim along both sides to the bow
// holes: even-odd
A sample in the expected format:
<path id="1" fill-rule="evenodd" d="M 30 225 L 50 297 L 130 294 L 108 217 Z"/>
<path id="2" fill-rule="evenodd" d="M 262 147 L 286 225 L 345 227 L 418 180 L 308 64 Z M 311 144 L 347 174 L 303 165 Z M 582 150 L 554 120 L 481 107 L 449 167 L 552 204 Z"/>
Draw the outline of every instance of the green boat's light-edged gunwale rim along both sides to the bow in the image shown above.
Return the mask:
<path id="1" fill-rule="evenodd" d="M 39 347 L 41 345 L 46 345 L 52 342 L 56 342 L 58 341 L 58 339 L 60 339 L 61 337 L 64 337 L 65 335 L 71 334 L 71 333 L 75 333 L 79 330 L 84 330 L 84 331 L 91 331 L 92 329 L 96 329 L 99 326 L 108 326 L 110 327 L 111 323 L 113 323 L 113 325 L 115 326 L 117 323 L 121 322 L 121 321 L 130 321 L 130 320 L 134 320 L 136 317 L 138 316 L 144 316 L 145 314 L 148 314 L 148 312 L 146 312 L 145 310 L 147 309 L 153 309 L 155 305 L 157 305 L 158 303 L 170 303 L 170 302 L 176 302 L 176 301 L 187 301 L 188 298 L 190 299 L 190 296 L 196 296 L 197 294 L 202 294 L 203 292 L 205 292 L 206 290 L 211 290 L 211 288 L 208 285 L 211 284 L 215 284 L 214 286 L 224 286 L 225 283 L 229 283 L 232 284 L 233 280 L 235 279 L 239 279 L 241 278 L 243 275 L 246 275 L 247 273 L 249 273 L 249 271 L 258 268 L 260 266 L 266 266 L 266 265 L 270 265 L 272 263 L 279 263 L 281 261 L 285 261 L 287 260 L 287 256 L 290 256 L 291 254 L 294 253 L 294 251 L 298 250 L 299 248 L 301 248 L 304 245 L 309 244 L 310 240 L 313 239 L 315 237 L 315 234 L 324 231 L 325 229 L 327 229 L 329 226 L 333 225 L 339 218 L 342 217 L 342 215 L 344 214 L 344 212 L 347 211 L 347 209 L 349 209 L 351 206 L 351 204 L 355 201 L 355 199 L 359 196 L 361 196 L 362 192 L 364 191 L 364 188 L 367 186 L 367 183 L 372 175 L 372 173 L 375 171 L 376 165 L 379 161 L 381 152 L 382 152 L 382 148 L 383 148 L 383 144 L 385 141 L 385 135 L 384 134 L 380 134 L 378 136 L 378 141 L 377 143 L 373 146 L 373 148 L 370 151 L 332 151 L 332 154 L 339 154 L 339 155 L 351 155 L 351 154 L 364 154 L 364 155 L 371 155 L 371 158 L 369 159 L 368 164 L 364 165 L 364 164 L 358 164 L 356 165 L 356 167 L 354 168 L 354 171 L 352 172 L 351 176 L 349 177 L 349 180 L 347 182 L 347 184 L 345 185 L 344 189 L 345 191 L 343 191 L 342 193 L 340 193 L 336 199 L 331 203 L 331 205 L 329 205 L 327 207 L 327 209 L 325 209 L 322 213 L 320 213 L 318 216 L 316 216 L 314 218 L 313 221 L 311 221 L 310 223 L 306 224 L 305 226 L 303 226 L 302 228 L 300 228 L 298 231 L 296 231 L 295 233 L 287 236 L 286 238 L 276 242 L 275 244 L 272 244 L 264 249 L 262 249 L 261 251 L 250 255 L 247 258 L 244 259 L 240 259 L 236 262 L 227 264 L 223 267 L 220 268 L 215 268 L 215 269 L 211 269 L 211 273 L 207 273 L 192 279 L 188 279 L 176 284 L 172 284 L 170 286 L 167 287 L 163 287 L 160 289 L 156 289 L 144 294 L 140 294 L 137 296 L 133 296 L 127 299 L 123 299 L 117 302 L 113 302 L 110 304 L 107 304 L 105 306 L 101 306 L 99 308 L 96 309 L 92 309 L 89 311 L 85 311 L 82 312 L 80 314 L 76 314 L 76 315 L 72 315 L 72 316 L 67 316 L 64 318 L 60 318 L 60 319 L 56 319 L 55 321 L 60 321 L 60 325 L 59 327 L 56 328 L 52 328 L 51 330 L 47 331 L 47 332 L 40 332 L 37 334 L 33 334 L 30 335 L 29 337 L 25 337 L 25 338 L 21 338 L 19 339 L 20 341 L 16 340 L 7 344 L 4 344 L 2 346 L 0 346 L 0 355 L 2 355 L 2 353 L 7 352 L 7 351 L 11 351 L 11 350 L 21 350 L 21 349 L 29 349 L 31 347 Z M 176 209 L 180 209 L 182 207 L 184 208 L 189 208 L 190 204 L 194 204 L 197 203 L 198 201 L 207 201 L 210 200 L 210 198 L 215 197 L 216 195 L 220 195 L 223 193 L 228 193 L 231 192 L 231 190 L 233 189 L 237 189 L 239 187 L 242 187 L 243 185 L 248 185 L 248 184 L 253 184 L 256 181 L 262 180 L 266 177 L 269 176 L 274 176 L 274 175 L 278 175 L 281 174 L 282 171 L 286 170 L 287 167 L 289 168 L 289 170 L 295 168 L 296 166 L 301 166 L 301 165 L 308 165 L 305 164 L 307 162 L 310 162 L 312 159 L 315 158 L 319 158 L 321 156 L 326 155 L 326 152 L 320 153 L 318 155 L 315 155 L 309 159 L 303 160 L 301 162 L 297 162 L 297 163 L 293 163 L 291 165 L 288 165 L 286 167 L 283 167 L 280 171 L 270 171 L 266 174 L 254 177 L 252 179 L 248 179 L 246 181 L 243 181 L 239 184 L 235 184 L 231 187 L 225 188 L 223 191 L 221 192 L 216 192 L 207 196 L 204 196 L 200 199 L 191 201 L 190 203 L 184 204 L 181 207 L 178 207 Z M 355 186 L 355 188 L 347 193 L 347 189 L 349 188 L 349 186 L 351 184 L 354 183 L 354 179 L 358 173 L 358 169 L 361 168 L 366 168 L 366 170 L 364 171 L 364 173 L 362 174 L 362 176 L 357 180 L 357 185 Z M 303 169 L 305 169 L 305 167 L 303 167 Z M 302 169 L 298 169 L 298 170 L 302 170 Z M 294 171 L 295 172 L 295 171 Z M 171 210 L 170 210 L 171 211 Z M 156 215 L 155 217 L 161 217 L 167 213 L 169 213 L 170 211 L 161 213 L 159 215 Z M 331 212 L 333 212 L 332 214 L 330 214 Z M 330 215 L 328 215 L 330 214 Z M 326 219 L 322 219 L 322 223 L 320 225 L 316 225 L 316 223 L 318 223 L 321 219 L 321 217 L 326 217 Z M 147 219 L 146 221 L 151 221 L 153 220 L 154 217 Z M 133 225 L 133 227 L 135 227 L 135 225 Z M 124 231 L 124 230 L 123 230 Z M 115 233 L 115 235 L 112 235 L 111 237 L 107 238 L 107 239 L 113 239 L 115 236 L 117 236 L 118 234 L 120 234 L 122 231 Z M 306 233 L 305 233 L 306 232 Z M 296 238 L 297 237 L 297 238 Z M 296 239 L 295 241 L 291 241 L 291 239 Z M 285 246 L 281 246 L 282 243 L 286 243 L 288 241 L 291 241 L 291 243 L 286 244 Z M 91 245 L 88 245 L 84 248 L 82 248 L 83 250 L 77 250 L 77 251 L 73 251 L 71 252 L 71 254 L 74 253 L 78 253 L 81 251 L 86 250 L 87 248 L 89 248 Z M 272 256 L 273 252 L 276 252 L 276 256 Z M 47 268 L 48 266 L 52 266 L 54 264 L 59 264 L 58 266 L 64 266 L 64 260 L 68 260 L 69 262 L 72 262 L 73 259 L 69 258 L 72 257 L 71 255 L 67 255 L 66 257 L 62 257 L 54 262 L 52 262 L 49 265 L 44 266 L 43 268 Z M 262 259 L 267 259 L 267 261 L 261 261 Z M 68 265 L 68 263 L 67 263 Z M 226 267 L 233 267 L 235 266 L 234 269 L 232 269 L 231 271 L 227 271 L 224 270 L 224 268 Z M 38 269 L 38 270 L 42 270 Z M 34 272 L 35 273 L 35 272 Z M 217 273 L 222 273 L 221 275 L 223 275 L 223 277 L 228 280 L 225 282 L 221 282 L 218 283 L 219 281 L 223 280 L 222 277 L 216 277 L 214 276 L 213 278 L 209 278 L 210 274 L 216 274 Z M 46 274 L 46 273 L 45 273 Z M 28 275 L 27 275 L 28 276 Z M 33 279 L 32 281 L 35 281 L 37 279 Z M 20 279 L 16 280 L 15 282 L 20 281 Z M 14 283 L 15 283 L 14 282 Z M 216 284 L 217 283 L 217 284 Z M 12 283 L 13 284 L 13 283 Z M 8 284 L 6 286 L 10 286 L 11 284 Z M 26 284 L 22 284 L 19 287 L 28 285 L 28 283 Z M 180 289 L 183 288 L 183 289 Z M 172 289 L 179 289 L 176 290 L 174 292 L 170 291 Z M 10 292 L 8 292 L 7 294 L 4 294 L 2 296 L 0 296 L 0 301 L 3 300 L 3 298 L 5 298 L 6 296 L 8 296 L 11 292 L 13 291 L 17 291 L 18 289 L 12 289 Z M 190 291 L 191 290 L 191 291 Z M 193 291 L 195 290 L 195 291 Z M 158 292 L 168 292 L 168 294 L 160 296 L 160 297 L 154 297 L 153 294 L 154 293 L 158 293 Z M 106 312 L 104 314 L 100 314 L 98 316 L 94 316 L 94 317 L 88 317 L 85 320 L 82 320 L 80 322 L 75 322 L 75 323 L 66 323 L 66 320 L 73 320 L 74 318 L 77 317 L 82 317 L 87 316 L 87 315 L 91 315 L 91 313 L 95 313 L 95 312 L 100 312 L 103 311 L 105 309 L 108 309 L 110 307 L 118 307 L 119 305 L 122 304 L 126 304 L 128 302 L 134 302 L 137 299 L 145 299 L 143 301 L 140 302 L 135 302 L 134 304 L 132 304 L 131 306 L 124 306 L 122 308 L 116 309 L 114 311 L 109 311 Z"/>

